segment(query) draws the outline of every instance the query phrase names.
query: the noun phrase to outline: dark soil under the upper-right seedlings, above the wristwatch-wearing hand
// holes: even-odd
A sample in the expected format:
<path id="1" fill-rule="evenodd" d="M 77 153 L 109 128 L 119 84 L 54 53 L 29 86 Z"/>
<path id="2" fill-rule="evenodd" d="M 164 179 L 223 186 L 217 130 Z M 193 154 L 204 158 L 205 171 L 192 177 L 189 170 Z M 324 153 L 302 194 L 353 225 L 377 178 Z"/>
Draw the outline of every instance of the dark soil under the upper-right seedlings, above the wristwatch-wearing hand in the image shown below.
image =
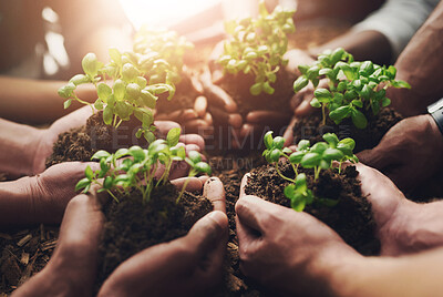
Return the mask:
<path id="1" fill-rule="evenodd" d="M 382 109 L 378 115 L 372 112 L 365 113 L 368 126 L 357 129 L 351 119 L 343 120 L 336 125 L 327 117 L 326 125 L 321 124 L 321 112 L 300 119 L 293 126 L 293 141 L 297 144 L 300 140 L 309 140 L 311 144 L 323 141 L 324 133 L 336 133 L 339 139 L 351 137 L 356 141 L 354 153 L 378 145 L 384 134 L 403 117 L 392 109 Z"/>

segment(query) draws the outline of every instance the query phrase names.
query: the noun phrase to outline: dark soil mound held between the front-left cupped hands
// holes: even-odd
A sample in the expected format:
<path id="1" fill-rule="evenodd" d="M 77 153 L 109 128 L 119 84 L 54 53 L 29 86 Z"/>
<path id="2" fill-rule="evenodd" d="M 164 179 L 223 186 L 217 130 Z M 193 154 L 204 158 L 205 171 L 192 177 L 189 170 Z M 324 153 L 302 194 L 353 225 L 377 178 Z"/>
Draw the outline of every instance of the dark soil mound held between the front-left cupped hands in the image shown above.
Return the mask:
<path id="1" fill-rule="evenodd" d="M 150 246 L 186 235 L 213 211 L 212 203 L 204 197 L 185 192 L 177 204 L 177 190 L 168 183 L 155 187 L 145 204 L 142 194 L 134 191 L 120 197 L 120 203 L 110 199 L 104 205 L 106 222 L 100 246 L 97 288 L 122 262 Z"/>

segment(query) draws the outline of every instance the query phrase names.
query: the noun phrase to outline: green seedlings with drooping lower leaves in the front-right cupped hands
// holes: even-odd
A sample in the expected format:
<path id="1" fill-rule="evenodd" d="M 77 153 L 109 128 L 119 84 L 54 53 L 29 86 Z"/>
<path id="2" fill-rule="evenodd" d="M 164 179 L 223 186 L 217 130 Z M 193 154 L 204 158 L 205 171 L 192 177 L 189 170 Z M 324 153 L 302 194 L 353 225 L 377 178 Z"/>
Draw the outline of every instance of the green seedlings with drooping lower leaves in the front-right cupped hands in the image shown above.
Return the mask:
<path id="1" fill-rule="evenodd" d="M 317 198 L 312 191 L 307 186 L 307 177 L 305 173 L 299 173 L 299 166 L 303 168 L 313 168 L 313 178 L 317 181 L 320 177 L 321 170 L 329 170 L 332 167 L 332 162 L 338 162 L 338 171 L 341 173 L 341 164 L 350 161 L 357 163 L 359 160 L 352 153 L 356 147 L 356 142 L 352 139 L 343 139 L 339 141 L 336 134 L 327 133 L 323 135 L 326 142 L 318 142 L 310 146 L 309 141 L 301 140 L 297 150 L 292 152 L 289 147 L 284 147 L 285 139 L 276 136 L 272 139 L 272 131 L 265 134 L 264 142 L 266 150 L 262 155 L 266 161 L 274 165 L 277 174 L 289 182 L 285 187 L 285 196 L 291 201 L 291 207 L 297 212 L 302 212 L 306 205 L 318 201 L 326 205 L 334 205 L 337 203 L 332 199 Z M 281 173 L 279 168 L 280 157 L 286 158 L 292 166 L 295 177 L 291 178 Z"/>

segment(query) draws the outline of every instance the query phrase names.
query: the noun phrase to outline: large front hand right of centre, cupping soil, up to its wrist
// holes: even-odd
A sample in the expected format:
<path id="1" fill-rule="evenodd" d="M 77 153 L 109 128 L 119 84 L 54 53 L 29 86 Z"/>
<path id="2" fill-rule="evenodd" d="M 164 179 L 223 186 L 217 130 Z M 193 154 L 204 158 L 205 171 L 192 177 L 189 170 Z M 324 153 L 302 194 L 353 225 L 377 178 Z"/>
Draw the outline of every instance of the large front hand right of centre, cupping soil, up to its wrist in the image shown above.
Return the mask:
<path id="1" fill-rule="evenodd" d="M 288 294 L 329 296 L 327 280 L 340 273 L 344 258 L 360 256 L 337 233 L 309 214 L 245 195 L 247 178 L 245 175 L 241 181 L 236 204 L 244 274 Z M 336 272 L 329 269 L 334 266 Z"/>

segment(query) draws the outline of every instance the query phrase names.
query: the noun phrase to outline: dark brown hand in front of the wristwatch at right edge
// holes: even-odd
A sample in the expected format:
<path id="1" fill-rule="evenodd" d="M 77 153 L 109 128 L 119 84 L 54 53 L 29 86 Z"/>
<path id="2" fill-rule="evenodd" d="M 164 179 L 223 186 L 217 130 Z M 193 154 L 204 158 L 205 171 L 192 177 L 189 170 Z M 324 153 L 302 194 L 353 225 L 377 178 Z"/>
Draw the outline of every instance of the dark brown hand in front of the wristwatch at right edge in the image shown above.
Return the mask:
<path id="1" fill-rule="evenodd" d="M 379 145 L 358 154 L 360 161 L 388 175 L 401 190 L 425 182 L 443 164 L 443 136 L 431 115 L 408 117 Z"/>

